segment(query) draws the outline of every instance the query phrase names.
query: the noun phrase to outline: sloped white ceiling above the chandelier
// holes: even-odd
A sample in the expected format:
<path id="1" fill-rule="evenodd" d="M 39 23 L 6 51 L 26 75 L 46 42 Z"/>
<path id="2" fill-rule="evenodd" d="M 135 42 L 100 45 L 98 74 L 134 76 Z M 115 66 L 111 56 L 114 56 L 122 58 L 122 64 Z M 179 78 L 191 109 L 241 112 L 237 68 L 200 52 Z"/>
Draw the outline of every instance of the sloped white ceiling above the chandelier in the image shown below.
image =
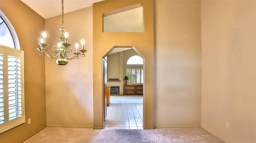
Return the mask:
<path id="1" fill-rule="evenodd" d="M 61 15 L 61 0 L 21 0 L 43 18 Z M 103 0 L 64 0 L 64 13 L 92 6 Z"/>

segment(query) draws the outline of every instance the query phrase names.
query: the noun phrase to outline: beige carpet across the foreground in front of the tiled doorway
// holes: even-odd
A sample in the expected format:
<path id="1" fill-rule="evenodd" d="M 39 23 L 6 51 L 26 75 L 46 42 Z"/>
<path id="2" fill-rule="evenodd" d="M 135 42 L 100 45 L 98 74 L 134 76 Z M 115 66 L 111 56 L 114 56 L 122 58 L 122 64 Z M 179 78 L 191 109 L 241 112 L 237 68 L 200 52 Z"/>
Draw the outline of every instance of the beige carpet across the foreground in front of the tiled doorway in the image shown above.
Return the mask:
<path id="1" fill-rule="evenodd" d="M 224 143 L 201 127 L 92 129 L 46 127 L 24 143 Z"/>

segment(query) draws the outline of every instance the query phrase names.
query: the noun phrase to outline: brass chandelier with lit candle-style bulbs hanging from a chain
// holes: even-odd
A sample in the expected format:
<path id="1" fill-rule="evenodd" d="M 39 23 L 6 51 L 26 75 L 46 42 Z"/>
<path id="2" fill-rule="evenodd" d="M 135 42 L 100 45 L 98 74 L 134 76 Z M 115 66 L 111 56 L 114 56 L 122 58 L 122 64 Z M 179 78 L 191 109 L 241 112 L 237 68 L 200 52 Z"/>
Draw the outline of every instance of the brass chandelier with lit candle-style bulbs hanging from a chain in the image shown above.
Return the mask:
<path id="1" fill-rule="evenodd" d="M 40 45 L 40 48 L 36 48 L 39 51 L 39 55 L 42 56 L 43 54 L 47 55 L 47 57 L 49 58 L 56 58 L 58 57 L 58 59 L 56 60 L 57 65 L 67 65 L 68 64 L 68 60 L 72 60 L 72 59 L 78 59 L 78 56 L 82 55 L 82 57 L 85 57 L 84 53 L 87 51 L 84 49 L 84 39 L 81 40 L 81 44 L 82 44 L 82 48 L 79 49 L 80 52 L 78 52 L 78 47 L 79 44 L 76 43 L 75 47 L 76 47 L 76 52 L 74 52 L 74 57 L 69 57 L 68 53 L 70 53 L 72 51 L 72 47 L 71 45 L 68 43 L 68 33 L 65 32 L 64 26 L 63 26 L 63 3 L 64 0 L 62 0 L 62 14 L 61 14 L 61 27 L 60 27 L 60 38 L 59 38 L 59 43 L 57 45 L 54 45 L 52 47 L 52 51 L 54 51 L 56 53 L 56 55 L 52 55 L 50 53 L 50 51 L 48 51 L 46 49 L 47 46 L 49 46 L 48 44 L 46 44 L 46 32 L 44 31 L 42 33 L 42 38 L 40 39 L 40 43 L 38 43 Z"/>

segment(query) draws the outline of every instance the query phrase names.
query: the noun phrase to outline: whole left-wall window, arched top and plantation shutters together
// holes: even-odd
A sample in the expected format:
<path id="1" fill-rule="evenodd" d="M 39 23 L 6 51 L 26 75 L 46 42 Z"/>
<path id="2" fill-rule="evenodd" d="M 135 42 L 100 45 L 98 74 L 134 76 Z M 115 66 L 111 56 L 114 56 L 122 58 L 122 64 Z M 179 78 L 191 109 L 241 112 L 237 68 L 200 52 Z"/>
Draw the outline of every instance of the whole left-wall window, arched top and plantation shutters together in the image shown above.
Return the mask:
<path id="1" fill-rule="evenodd" d="M 0 10 L 0 133 L 25 123 L 24 99 L 24 51 Z"/>

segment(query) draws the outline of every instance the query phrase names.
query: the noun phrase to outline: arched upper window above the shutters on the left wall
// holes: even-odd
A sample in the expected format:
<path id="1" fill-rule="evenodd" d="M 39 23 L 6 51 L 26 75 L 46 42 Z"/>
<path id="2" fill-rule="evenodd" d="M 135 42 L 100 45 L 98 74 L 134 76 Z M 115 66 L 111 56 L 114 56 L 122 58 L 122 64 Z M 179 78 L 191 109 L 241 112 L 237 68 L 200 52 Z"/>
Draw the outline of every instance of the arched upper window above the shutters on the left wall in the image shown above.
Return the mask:
<path id="1" fill-rule="evenodd" d="M 12 24 L 0 10 L 0 45 L 13 49 L 20 49 L 18 36 Z"/>

